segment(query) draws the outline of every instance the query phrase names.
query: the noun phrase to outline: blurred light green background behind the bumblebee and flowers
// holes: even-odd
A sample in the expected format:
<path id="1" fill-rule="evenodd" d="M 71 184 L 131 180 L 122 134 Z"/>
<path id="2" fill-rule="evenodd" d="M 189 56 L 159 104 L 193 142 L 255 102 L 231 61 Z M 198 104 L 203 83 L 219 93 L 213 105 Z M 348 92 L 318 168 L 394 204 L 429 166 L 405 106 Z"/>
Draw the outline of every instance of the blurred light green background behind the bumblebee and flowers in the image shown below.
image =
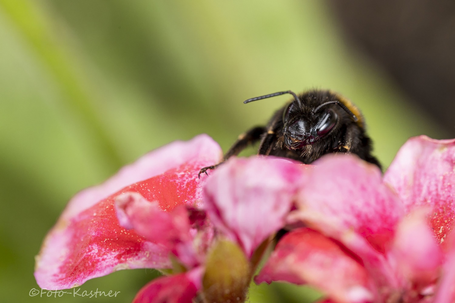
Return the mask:
<path id="1" fill-rule="evenodd" d="M 226 150 L 288 96 L 244 99 L 339 91 L 385 167 L 410 136 L 444 136 L 331 14 L 324 1 L 0 0 L 0 301 L 131 302 L 155 271 L 81 286 L 115 299 L 30 297 L 42 239 L 77 191 L 173 140 L 207 133 Z M 261 286 L 251 302 L 307 294 Z"/>

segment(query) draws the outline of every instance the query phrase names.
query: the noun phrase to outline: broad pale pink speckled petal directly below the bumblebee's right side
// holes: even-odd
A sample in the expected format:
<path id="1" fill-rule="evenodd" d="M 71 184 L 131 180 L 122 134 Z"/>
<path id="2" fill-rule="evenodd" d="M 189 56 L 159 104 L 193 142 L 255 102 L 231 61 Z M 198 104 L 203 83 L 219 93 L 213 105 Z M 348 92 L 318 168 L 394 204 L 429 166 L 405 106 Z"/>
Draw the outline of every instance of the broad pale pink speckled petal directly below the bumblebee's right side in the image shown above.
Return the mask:
<path id="1" fill-rule="evenodd" d="M 398 197 L 383 184 L 380 170 L 345 154 L 315 162 L 305 174 L 297 206 L 290 219 L 309 220 L 313 228 L 324 228 L 324 233 L 354 231 L 381 253 L 404 215 Z"/>

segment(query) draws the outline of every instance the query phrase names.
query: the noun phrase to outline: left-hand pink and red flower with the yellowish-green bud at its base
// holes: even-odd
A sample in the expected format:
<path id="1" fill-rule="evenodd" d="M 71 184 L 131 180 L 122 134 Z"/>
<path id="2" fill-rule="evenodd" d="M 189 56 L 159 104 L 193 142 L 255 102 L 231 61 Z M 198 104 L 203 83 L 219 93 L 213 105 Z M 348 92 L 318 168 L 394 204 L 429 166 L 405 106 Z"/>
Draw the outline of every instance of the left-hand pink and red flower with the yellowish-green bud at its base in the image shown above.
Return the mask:
<path id="1" fill-rule="evenodd" d="M 218 145 L 201 135 L 77 194 L 45 238 L 37 283 L 71 288 L 119 269 L 168 268 L 174 274 L 148 283 L 135 303 L 243 302 L 302 168 L 285 159 L 232 159 L 198 179 L 200 168 L 220 158 Z"/>

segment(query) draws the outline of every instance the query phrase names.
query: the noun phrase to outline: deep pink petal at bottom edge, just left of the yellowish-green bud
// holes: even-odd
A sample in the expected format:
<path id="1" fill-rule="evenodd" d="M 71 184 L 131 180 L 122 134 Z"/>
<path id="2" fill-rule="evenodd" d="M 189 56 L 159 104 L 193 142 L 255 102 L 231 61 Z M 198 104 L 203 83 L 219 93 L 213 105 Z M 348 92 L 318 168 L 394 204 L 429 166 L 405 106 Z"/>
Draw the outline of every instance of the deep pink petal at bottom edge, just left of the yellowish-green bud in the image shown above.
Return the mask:
<path id="1" fill-rule="evenodd" d="M 199 280 L 201 273 L 198 273 Z M 133 303 L 192 303 L 197 286 L 192 282 L 191 275 L 190 272 L 157 278 L 141 288 Z"/>

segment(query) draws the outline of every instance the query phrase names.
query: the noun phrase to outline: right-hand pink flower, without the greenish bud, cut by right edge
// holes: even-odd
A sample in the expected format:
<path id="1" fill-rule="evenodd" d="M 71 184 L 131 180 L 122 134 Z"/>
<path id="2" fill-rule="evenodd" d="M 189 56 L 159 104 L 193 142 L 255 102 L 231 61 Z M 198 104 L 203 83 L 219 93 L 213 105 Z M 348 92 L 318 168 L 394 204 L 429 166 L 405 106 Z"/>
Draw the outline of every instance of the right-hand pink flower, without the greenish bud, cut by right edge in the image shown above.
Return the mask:
<path id="1" fill-rule="evenodd" d="M 304 174 L 294 227 L 255 278 L 330 302 L 454 302 L 455 140 L 410 139 L 381 177 L 332 155 Z"/>

